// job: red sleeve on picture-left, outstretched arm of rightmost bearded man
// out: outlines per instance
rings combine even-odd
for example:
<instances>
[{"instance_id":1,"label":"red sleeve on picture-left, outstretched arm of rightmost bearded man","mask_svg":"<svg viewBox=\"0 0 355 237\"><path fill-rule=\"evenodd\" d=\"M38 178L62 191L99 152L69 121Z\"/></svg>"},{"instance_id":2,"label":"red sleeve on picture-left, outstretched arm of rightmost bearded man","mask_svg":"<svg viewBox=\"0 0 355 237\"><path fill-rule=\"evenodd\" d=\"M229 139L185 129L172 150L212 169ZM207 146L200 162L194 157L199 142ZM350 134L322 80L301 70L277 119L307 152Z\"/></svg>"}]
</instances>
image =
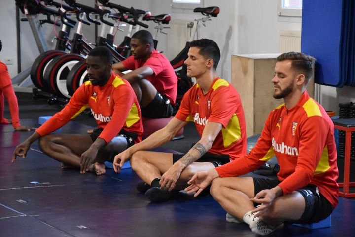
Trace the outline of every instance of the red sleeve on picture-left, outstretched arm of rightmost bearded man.
<instances>
[{"instance_id":1,"label":"red sleeve on picture-left, outstretched arm of rightmost bearded man","mask_svg":"<svg viewBox=\"0 0 355 237\"><path fill-rule=\"evenodd\" d=\"M255 147L250 151L248 155L244 155L225 165L216 168L220 177L235 177L247 174L257 169L267 160L275 156L274 150L272 148L272 140L270 133L271 117L272 116L270 114L269 118L265 122L265 126L261 132L261 136L256 142Z\"/></svg>"}]
</instances>

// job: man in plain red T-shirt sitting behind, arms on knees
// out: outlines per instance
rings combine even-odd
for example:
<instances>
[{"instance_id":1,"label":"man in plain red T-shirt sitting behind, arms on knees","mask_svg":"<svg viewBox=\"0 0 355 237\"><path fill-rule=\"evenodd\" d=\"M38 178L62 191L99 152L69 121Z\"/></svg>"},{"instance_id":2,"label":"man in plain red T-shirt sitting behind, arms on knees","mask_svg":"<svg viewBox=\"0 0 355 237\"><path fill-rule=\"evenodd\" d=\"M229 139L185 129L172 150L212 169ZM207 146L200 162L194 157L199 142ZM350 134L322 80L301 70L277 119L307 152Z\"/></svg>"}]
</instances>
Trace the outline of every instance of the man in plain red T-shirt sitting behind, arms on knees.
<instances>
[{"instance_id":1,"label":"man in plain red T-shirt sitting behind, arms on knees","mask_svg":"<svg viewBox=\"0 0 355 237\"><path fill-rule=\"evenodd\" d=\"M154 49L149 31L140 30L131 39L132 56L112 69L131 83L147 118L169 118L178 93L178 78L169 60ZM133 70L127 74L121 72Z\"/></svg>"}]
</instances>

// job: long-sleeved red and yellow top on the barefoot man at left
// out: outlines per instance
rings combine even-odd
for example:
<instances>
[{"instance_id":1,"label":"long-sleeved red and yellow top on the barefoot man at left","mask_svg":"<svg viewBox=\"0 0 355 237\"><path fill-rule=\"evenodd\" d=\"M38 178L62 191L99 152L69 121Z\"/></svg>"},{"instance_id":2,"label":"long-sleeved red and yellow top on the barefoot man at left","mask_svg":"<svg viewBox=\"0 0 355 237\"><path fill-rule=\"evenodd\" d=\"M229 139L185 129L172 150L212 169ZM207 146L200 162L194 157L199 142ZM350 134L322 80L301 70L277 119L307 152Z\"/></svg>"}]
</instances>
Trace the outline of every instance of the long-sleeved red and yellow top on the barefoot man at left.
<instances>
[{"instance_id":1,"label":"long-sleeved red and yellow top on the barefoot man at left","mask_svg":"<svg viewBox=\"0 0 355 237\"><path fill-rule=\"evenodd\" d=\"M36 132L41 136L51 133L88 107L98 126L104 128L99 137L106 143L121 129L136 133L136 143L142 141L143 125L137 97L130 83L113 73L102 87L94 86L90 81L83 83L63 110L46 121Z\"/></svg>"}]
</instances>

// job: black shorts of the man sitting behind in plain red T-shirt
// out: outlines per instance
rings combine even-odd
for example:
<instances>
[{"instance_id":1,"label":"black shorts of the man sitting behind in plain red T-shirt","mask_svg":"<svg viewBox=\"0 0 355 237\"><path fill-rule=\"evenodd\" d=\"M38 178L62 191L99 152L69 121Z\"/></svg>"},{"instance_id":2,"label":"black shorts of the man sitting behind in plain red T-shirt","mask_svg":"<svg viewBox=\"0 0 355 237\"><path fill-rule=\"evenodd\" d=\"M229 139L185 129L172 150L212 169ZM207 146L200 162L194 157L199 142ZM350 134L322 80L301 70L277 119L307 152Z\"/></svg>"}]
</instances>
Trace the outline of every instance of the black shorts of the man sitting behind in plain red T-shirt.
<instances>
[{"instance_id":1,"label":"black shorts of the man sitting behind in plain red T-shirt","mask_svg":"<svg viewBox=\"0 0 355 237\"><path fill-rule=\"evenodd\" d=\"M169 118L173 115L174 107L170 100L158 91L154 99L141 108L142 116L146 118Z\"/></svg>"}]
</instances>

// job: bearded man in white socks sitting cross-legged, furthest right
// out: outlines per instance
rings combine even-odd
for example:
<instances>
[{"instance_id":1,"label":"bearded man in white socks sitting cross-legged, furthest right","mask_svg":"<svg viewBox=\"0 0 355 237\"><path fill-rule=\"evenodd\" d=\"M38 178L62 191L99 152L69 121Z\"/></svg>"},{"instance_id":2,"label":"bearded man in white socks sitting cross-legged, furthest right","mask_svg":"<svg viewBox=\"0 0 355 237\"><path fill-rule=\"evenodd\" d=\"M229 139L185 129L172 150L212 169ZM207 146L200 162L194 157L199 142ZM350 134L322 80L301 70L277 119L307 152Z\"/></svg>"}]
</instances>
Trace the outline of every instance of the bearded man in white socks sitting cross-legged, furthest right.
<instances>
[{"instance_id":1,"label":"bearded man in white socks sitting cross-legged, furthest right","mask_svg":"<svg viewBox=\"0 0 355 237\"><path fill-rule=\"evenodd\" d=\"M185 190L195 196L212 181L211 194L227 211L227 221L245 222L267 235L284 221L310 224L328 217L338 204L334 125L306 91L314 58L298 52L277 58L273 110L251 152L228 164L197 173ZM277 179L236 177L276 155ZM219 178L220 177L220 178ZM254 205L261 204L254 209Z\"/></svg>"}]
</instances>

